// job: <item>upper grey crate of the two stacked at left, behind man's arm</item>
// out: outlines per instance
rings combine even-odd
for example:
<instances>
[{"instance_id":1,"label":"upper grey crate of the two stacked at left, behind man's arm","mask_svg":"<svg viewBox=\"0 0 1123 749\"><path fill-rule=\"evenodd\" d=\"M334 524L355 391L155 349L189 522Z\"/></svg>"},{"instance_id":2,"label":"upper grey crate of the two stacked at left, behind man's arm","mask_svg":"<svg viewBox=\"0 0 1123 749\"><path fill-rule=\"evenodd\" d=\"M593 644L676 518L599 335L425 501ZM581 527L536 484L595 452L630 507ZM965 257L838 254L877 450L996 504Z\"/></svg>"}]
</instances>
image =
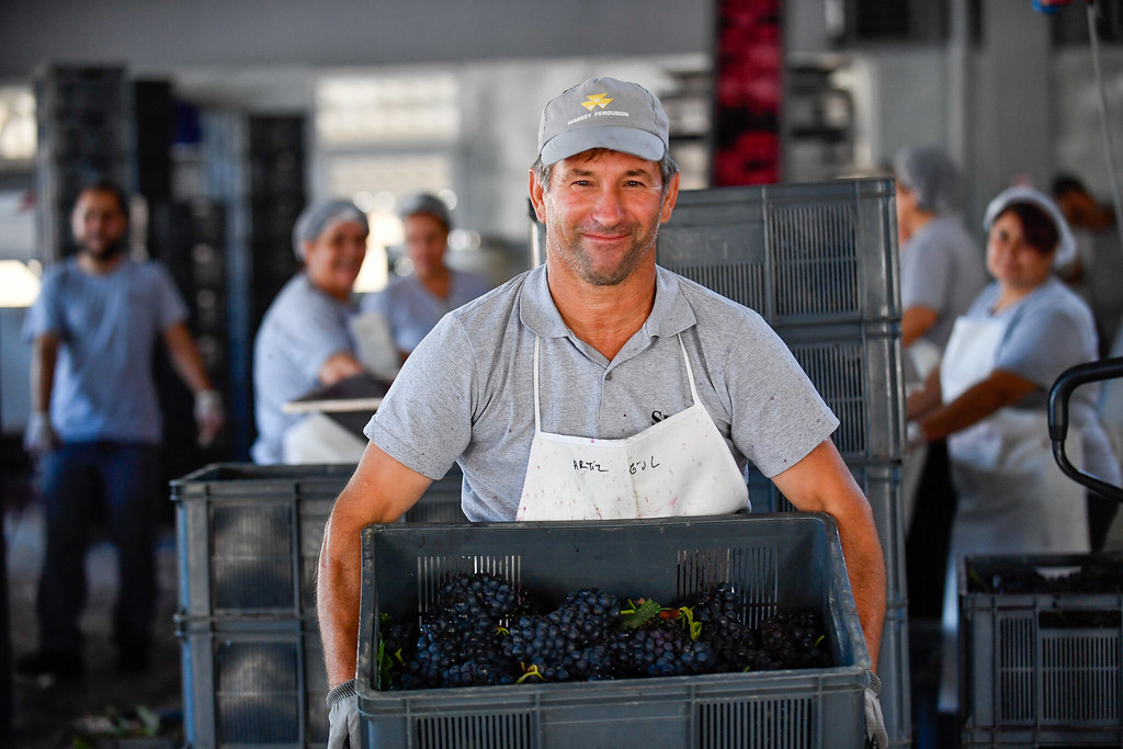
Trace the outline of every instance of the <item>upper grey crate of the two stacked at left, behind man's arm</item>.
<instances>
[{"instance_id":1,"label":"upper grey crate of the two stacked at left, behind man's arm","mask_svg":"<svg viewBox=\"0 0 1123 749\"><path fill-rule=\"evenodd\" d=\"M180 611L190 616L312 616L323 526L353 465L212 464L171 483ZM458 468L405 522L467 522Z\"/></svg>"}]
</instances>

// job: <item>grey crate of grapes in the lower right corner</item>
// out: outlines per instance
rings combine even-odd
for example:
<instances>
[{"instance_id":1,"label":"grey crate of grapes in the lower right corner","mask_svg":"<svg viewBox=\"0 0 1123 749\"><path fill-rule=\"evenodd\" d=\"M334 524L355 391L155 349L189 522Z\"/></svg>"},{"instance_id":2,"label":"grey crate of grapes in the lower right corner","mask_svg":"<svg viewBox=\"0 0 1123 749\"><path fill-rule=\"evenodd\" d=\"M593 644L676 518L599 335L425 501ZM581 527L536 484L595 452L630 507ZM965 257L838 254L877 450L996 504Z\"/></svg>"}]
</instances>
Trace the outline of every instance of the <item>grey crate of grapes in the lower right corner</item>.
<instances>
[{"instance_id":1,"label":"grey crate of grapes in the lower right corner","mask_svg":"<svg viewBox=\"0 0 1123 749\"><path fill-rule=\"evenodd\" d=\"M968 556L964 746L1123 746L1123 555Z\"/></svg>"}]
</instances>

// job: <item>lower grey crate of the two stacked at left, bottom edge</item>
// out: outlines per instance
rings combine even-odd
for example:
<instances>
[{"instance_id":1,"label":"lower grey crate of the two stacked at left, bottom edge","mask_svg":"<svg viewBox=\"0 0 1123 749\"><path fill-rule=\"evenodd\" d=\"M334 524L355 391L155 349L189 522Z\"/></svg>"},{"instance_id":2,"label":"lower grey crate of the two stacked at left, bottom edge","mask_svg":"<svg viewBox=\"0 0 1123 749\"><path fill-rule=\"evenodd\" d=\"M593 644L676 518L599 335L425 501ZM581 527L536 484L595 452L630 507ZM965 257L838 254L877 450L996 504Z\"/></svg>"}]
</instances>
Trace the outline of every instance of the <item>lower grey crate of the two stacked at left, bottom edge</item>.
<instances>
[{"instance_id":1,"label":"lower grey crate of the two stacked at left, bottom edge","mask_svg":"<svg viewBox=\"0 0 1123 749\"><path fill-rule=\"evenodd\" d=\"M314 619L176 618L191 749L322 749L327 673Z\"/></svg>"}]
</instances>

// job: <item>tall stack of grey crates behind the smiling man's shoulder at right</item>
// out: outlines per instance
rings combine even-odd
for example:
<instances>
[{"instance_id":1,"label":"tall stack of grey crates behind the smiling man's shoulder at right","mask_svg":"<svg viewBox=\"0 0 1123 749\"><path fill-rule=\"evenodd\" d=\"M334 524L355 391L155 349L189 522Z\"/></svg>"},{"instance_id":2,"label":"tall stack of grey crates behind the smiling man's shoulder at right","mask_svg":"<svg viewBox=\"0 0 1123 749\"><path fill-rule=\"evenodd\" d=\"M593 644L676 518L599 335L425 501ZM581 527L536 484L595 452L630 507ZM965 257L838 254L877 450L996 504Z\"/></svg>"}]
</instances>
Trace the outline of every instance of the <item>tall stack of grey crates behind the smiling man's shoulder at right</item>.
<instances>
[{"instance_id":1,"label":"tall stack of grey crates behind the smiling man's shoulder at right","mask_svg":"<svg viewBox=\"0 0 1123 749\"><path fill-rule=\"evenodd\" d=\"M894 198L887 179L684 191L657 258L759 312L841 421L834 444L873 506L888 574L886 728L894 746L911 746ZM754 512L793 509L755 468L748 481Z\"/></svg>"}]
</instances>

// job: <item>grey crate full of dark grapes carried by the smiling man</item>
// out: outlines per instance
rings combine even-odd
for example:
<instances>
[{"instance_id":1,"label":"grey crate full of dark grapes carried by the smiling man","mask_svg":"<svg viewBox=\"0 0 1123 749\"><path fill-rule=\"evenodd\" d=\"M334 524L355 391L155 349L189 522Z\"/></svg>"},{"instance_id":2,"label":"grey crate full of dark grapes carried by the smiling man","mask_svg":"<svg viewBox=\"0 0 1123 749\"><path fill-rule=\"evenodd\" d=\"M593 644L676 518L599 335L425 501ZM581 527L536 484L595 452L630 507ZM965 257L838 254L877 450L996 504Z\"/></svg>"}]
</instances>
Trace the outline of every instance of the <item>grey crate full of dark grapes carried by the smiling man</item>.
<instances>
[{"instance_id":1,"label":"grey crate full of dark grapes carried by the smiling man","mask_svg":"<svg viewBox=\"0 0 1123 749\"><path fill-rule=\"evenodd\" d=\"M860 747L831 518L363 532L365 746Z\"/></svg>"}]
</instances>

